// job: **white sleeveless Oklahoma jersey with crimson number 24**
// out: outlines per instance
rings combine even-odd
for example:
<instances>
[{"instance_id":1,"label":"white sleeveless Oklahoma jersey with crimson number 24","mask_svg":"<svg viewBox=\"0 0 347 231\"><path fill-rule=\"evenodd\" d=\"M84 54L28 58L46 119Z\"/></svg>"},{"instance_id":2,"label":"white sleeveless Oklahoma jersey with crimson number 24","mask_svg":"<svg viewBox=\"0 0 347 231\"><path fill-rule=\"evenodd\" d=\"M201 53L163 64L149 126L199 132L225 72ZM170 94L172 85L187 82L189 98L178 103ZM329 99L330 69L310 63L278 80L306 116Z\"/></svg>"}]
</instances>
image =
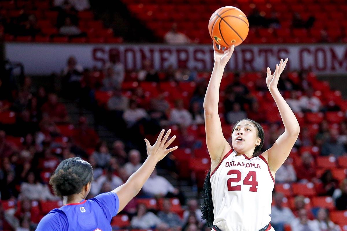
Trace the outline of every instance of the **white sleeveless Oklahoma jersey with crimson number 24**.
<instances>
[{"instance_id":1,"label":"white sleeveless Oklahoma jersey with crimson number 24","mask_svg":"<svg viewBox=\"0 0 347 231\"><path fill-rule=\"evenodd\" d=\"M230 150L210 180L213 224L219 229L258 231L270 223L274 179L264 157L236 156Z\"/></svg>"}]
</instances>

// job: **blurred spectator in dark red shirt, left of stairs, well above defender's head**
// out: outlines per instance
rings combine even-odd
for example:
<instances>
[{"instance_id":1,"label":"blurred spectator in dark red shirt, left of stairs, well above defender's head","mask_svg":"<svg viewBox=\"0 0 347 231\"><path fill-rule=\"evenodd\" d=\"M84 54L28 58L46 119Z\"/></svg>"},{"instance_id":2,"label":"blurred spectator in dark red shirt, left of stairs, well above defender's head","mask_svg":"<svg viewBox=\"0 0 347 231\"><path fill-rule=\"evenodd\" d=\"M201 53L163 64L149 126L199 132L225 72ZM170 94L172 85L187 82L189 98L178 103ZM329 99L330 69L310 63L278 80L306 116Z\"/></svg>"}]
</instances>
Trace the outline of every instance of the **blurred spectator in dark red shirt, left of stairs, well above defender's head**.
<instances>
[{"instance_id":1,"label":"blurred spectator in dark red shirt, left of stairs, well above defender's head","mask_svg":"<svg viewBox=\"0 0 347 231\"><path fill-rule=\"evenodd\" d=\"M69 121L64 104L58 102L58 97L54 93L49 94L48 101L42 106L41 110L42 113L48 113L56 123Z\"/></svg>"}]
</instances>

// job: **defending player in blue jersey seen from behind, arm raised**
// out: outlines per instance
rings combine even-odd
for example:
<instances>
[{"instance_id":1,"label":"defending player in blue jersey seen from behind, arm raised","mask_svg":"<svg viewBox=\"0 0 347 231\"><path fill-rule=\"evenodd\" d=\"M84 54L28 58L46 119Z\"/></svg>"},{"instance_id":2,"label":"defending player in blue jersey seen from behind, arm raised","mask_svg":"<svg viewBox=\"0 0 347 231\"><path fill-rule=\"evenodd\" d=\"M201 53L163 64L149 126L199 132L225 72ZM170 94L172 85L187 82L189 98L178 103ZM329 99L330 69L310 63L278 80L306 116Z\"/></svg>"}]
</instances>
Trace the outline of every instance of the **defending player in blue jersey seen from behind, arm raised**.
<instances>
[{"instance_id":1,"label":"defending player in blue jersey seen from behind, arm raised","mask_svg":"<svg viewBox=\"0 0 347 231\"><path fill-rule=\"evenodd\" d=\"M112 217L137 195L152 174L156 163L177 149L177 146L167 149L176 139L176 136L173 136L166 142L170 132L171 130L168 130L161 140L164 134L162 130L153 146L145 139L148 157L124 185L89 200L85 198L90 192L93 180L90 163L76 157L62 161L51 177L50 184L54 193L63 198L64 206L53 209L44 216L36 231L111 230Z\"/></svg>"}]
</instances>

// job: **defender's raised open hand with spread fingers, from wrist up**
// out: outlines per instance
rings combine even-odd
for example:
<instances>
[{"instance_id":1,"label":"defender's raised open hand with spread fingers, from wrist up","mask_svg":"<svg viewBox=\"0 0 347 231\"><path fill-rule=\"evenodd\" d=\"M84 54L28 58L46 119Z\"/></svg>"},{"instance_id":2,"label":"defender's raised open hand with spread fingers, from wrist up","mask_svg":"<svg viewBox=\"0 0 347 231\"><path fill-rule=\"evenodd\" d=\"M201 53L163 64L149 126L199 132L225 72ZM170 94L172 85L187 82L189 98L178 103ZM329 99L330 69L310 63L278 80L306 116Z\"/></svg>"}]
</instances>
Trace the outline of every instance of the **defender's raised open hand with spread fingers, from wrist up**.
<instances>
[{"instance_id":1,"label":"defender's raised open hand with spread fingers, from wrist up","mask_svg":"<svg viewBox=\"0 0 347 231\"><path fill-rule=\"evenodd\" d=\"M163 159L169 152L172 152L178 148L177 146L175 146L173 148L167 149L168 146L172 143L172 141L176 139L176 136L172 136L172 138L168 142L166 142L171 133L171 129L167 131L164 138L162 139L164 131L164 129L161 130L158 139L156 140L153 146L151 146L150 142L147 139L145 139L147 146L147 155L149 157L155 158L157 162Z\"/></svg>"}]
</instances>

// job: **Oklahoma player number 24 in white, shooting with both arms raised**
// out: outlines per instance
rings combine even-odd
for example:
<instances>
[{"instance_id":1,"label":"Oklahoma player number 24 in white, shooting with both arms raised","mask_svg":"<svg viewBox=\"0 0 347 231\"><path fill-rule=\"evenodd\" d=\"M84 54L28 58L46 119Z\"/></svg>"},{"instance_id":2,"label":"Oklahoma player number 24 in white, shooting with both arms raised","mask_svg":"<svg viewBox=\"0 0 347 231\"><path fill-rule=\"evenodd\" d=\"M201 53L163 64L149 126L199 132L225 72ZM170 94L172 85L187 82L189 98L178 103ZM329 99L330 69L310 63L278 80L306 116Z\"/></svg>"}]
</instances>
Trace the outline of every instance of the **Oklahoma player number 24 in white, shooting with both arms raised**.
<instances>
[{"instance_id":1,"label":"Oklahoma player number 24 in white, shooting with both arms raised","mask_svg":"<svg viewBox=\"0 0 347 231\"><path fill-rule=\"evenodd\" d=\"M264 131L259 123L251 119L238 121L231 134L233 149L223 136L218 115L219 85L234 46L222 50L213 42L213 50L214 66L204 99L206 143L212 165L203 188L203 218L214 230L273 230L269 215L274 176L299 135L296 117L277 89L288 59L281 60L273 74L270 68L266 71L266 84L285 132L260 155L257 153L263 146Z\"/></svg>"}]
</instances>

